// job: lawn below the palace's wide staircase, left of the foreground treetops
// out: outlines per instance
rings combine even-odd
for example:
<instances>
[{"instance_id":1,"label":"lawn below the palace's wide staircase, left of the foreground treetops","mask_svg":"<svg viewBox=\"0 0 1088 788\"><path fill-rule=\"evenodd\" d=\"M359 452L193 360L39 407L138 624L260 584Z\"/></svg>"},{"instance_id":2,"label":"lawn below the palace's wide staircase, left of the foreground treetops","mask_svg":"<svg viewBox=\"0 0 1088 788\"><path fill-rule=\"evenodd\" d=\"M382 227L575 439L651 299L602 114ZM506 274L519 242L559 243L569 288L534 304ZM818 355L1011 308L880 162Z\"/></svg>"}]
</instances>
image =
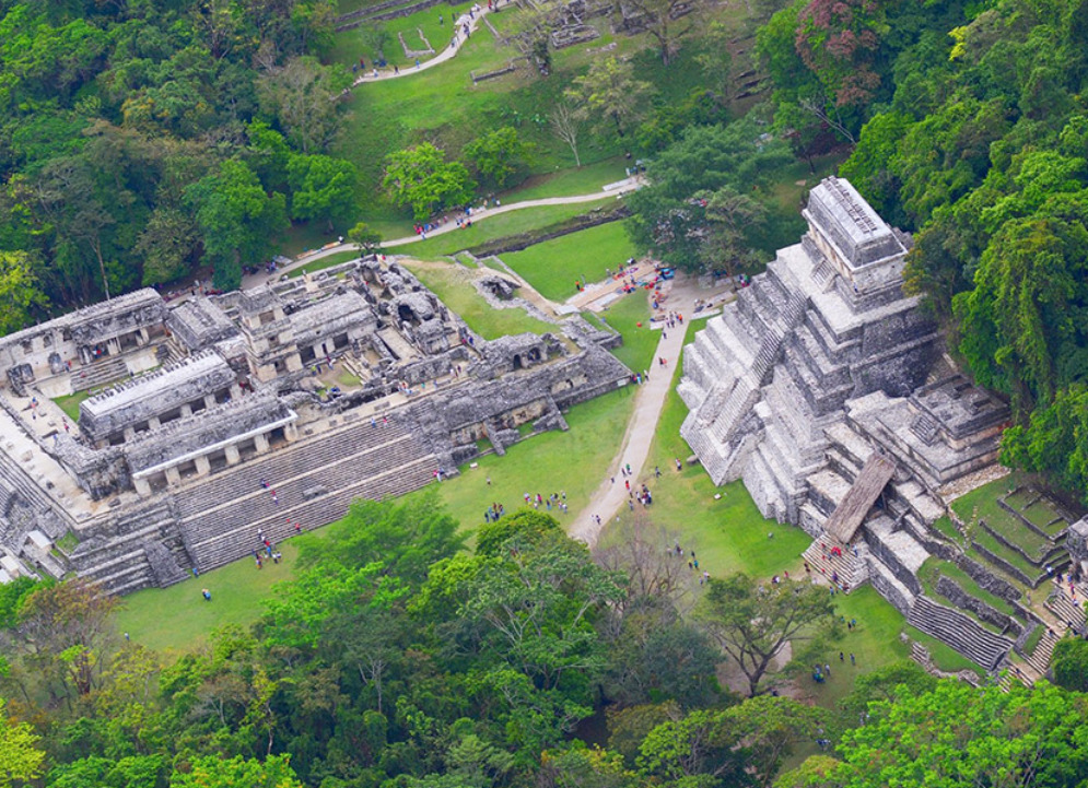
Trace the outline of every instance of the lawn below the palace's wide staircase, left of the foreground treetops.
<instances>
[{"instance_id":1,"label":"lawn below the palace's wide staircase, left of the foreground treetops","mask_svg":"<svg viewBox=\"0 0 1088 788\"><path fill-rule=\"evenodd\" d=\"M290 539L279 549L283 561L267 561L260 571L253 558L242 558L169 588L148 588L125 597L116 618L118 631L160 651L191 651L207 643L217 627L248 626L264 611L261 601L271 596L272 585L293 575L299 550ZM211 602L200 596L202 588L211 591Z\"/></svg>"}]
</instances>

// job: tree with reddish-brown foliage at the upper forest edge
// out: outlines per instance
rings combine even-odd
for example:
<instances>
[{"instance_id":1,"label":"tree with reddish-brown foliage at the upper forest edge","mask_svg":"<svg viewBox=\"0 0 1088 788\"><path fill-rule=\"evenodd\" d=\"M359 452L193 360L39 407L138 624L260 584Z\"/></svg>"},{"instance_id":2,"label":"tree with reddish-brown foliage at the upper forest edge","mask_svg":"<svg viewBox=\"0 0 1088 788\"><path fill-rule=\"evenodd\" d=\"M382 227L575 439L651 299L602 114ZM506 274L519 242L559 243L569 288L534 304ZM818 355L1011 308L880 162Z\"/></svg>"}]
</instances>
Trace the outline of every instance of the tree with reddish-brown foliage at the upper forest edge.
<instances>
[{"instance_id":1,"label":"tree with reddish-brown foliage at the upper forest edge","mask_svg":"<svg viewBox=\"0 0 1088 788\"><path fill-rule=\"evenodd\" d=\"M798 17L795 46L835 107L871 101L880 75L874 70L885 10L877 0L810 0Z\"/></svg>"}]
</instances>

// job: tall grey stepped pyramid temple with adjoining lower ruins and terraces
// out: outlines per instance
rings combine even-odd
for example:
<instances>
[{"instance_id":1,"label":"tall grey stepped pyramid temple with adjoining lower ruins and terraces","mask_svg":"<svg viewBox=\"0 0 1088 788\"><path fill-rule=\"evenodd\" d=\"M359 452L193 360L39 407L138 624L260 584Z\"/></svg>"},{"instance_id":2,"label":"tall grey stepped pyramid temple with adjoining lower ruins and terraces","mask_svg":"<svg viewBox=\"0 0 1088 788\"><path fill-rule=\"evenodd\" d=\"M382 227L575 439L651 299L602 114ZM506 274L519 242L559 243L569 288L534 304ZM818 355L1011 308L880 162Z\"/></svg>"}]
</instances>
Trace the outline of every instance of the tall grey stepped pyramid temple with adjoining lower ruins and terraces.
<instances>
[{"instance_id":1,"label":"tall grey stepped pyramid temple with adjoining lower ruins and terraces","mask_svg":"<svg viewBox=\"0 0 1088 788\"><path fill-rule=\"evenodd\" d=\"M764 516L812 536L814 571L846 589L871 583L909 623L996 669L1041 626L998 574L1038 587L1067 560L1066 532L1006 506L1039 543L1019 568L978 541L968 555L934 527L950 492L994 464L1008 409L955 373L936 326L904 297L909 237L834 177L804 215L802 243L685 349L681 434L715 483L742 479ZM941 593L963 603L936 601L919 579L931 555L1013 614L948 583Z\"/></svg>"}]
</instances>

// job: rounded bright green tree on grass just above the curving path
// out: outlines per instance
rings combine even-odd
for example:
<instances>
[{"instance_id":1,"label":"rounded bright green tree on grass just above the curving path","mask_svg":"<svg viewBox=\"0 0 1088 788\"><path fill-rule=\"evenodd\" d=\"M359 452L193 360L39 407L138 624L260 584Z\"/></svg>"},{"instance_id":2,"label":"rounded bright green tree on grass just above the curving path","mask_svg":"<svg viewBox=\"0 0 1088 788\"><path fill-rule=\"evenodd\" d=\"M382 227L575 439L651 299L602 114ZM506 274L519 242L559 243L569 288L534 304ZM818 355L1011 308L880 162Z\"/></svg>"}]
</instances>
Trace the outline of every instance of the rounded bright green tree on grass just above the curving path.
<instances>
[{"instance_id":1,"label":"rounded bright green tree on grass just above the curving path","mask_svg":"<svg viewBox=\"0 0 1088 788\"><path fill-rule=\"evenodd\" d=\"M389 155L382 186L394 202L411 205L417 221L438 208L468 202L476 188L465 165L447 162L430 142Z\"/></svg>"}]
</instances>

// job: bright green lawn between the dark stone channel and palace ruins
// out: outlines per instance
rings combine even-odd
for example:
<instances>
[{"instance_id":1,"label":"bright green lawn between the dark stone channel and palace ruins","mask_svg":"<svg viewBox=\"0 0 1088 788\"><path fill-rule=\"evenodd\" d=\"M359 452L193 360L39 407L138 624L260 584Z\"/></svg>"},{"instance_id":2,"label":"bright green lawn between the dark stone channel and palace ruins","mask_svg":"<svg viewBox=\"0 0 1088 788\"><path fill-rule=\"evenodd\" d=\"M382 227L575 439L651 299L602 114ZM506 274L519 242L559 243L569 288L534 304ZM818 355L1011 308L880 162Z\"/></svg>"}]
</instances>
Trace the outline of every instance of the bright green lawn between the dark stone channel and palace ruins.
<instances>
[{"instance_id":1,"label":"bright green lawn between the dark stone channel and palace ruins","mask_svg":"<svg viewBox=\"0 0 1088 788\"><path fill-rule=\"evenodd\" d=\"M500 257L540 295L563 302L574 295L575 280L597 282L605 278L606 268L616 271L637 254L623 224L609 222Z\"/></svg>"}]
</instances>

